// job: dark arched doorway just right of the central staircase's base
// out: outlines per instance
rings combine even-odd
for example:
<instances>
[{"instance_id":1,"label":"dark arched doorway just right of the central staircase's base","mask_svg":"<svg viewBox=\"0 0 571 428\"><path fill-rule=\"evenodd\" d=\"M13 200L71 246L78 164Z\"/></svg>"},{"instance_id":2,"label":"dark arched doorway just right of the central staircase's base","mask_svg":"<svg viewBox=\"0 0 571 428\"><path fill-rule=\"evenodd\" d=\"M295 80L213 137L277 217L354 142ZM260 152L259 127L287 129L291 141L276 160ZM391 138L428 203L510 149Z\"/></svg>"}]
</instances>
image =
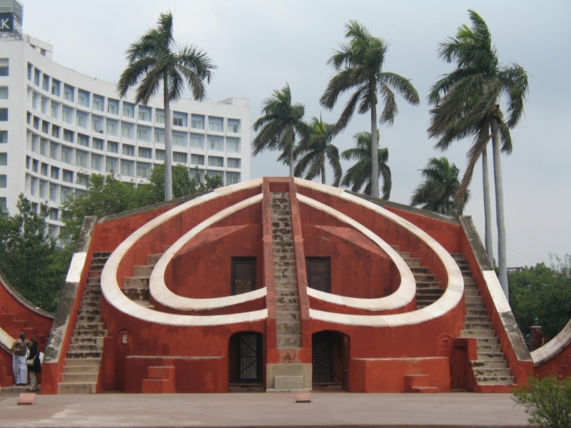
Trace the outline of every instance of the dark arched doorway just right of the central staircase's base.
<instances>
[{"instance_id":1,"label":"dark arched doorway just right of the central staircase's base","mask_svg":"<svg viewBox=\"0 0 571 428\"><path fill-rule=\"evenodd\" d=\"M343 336L318 332L311 339L313 384L343 386Z\"/></svg>"}]
</instances>

